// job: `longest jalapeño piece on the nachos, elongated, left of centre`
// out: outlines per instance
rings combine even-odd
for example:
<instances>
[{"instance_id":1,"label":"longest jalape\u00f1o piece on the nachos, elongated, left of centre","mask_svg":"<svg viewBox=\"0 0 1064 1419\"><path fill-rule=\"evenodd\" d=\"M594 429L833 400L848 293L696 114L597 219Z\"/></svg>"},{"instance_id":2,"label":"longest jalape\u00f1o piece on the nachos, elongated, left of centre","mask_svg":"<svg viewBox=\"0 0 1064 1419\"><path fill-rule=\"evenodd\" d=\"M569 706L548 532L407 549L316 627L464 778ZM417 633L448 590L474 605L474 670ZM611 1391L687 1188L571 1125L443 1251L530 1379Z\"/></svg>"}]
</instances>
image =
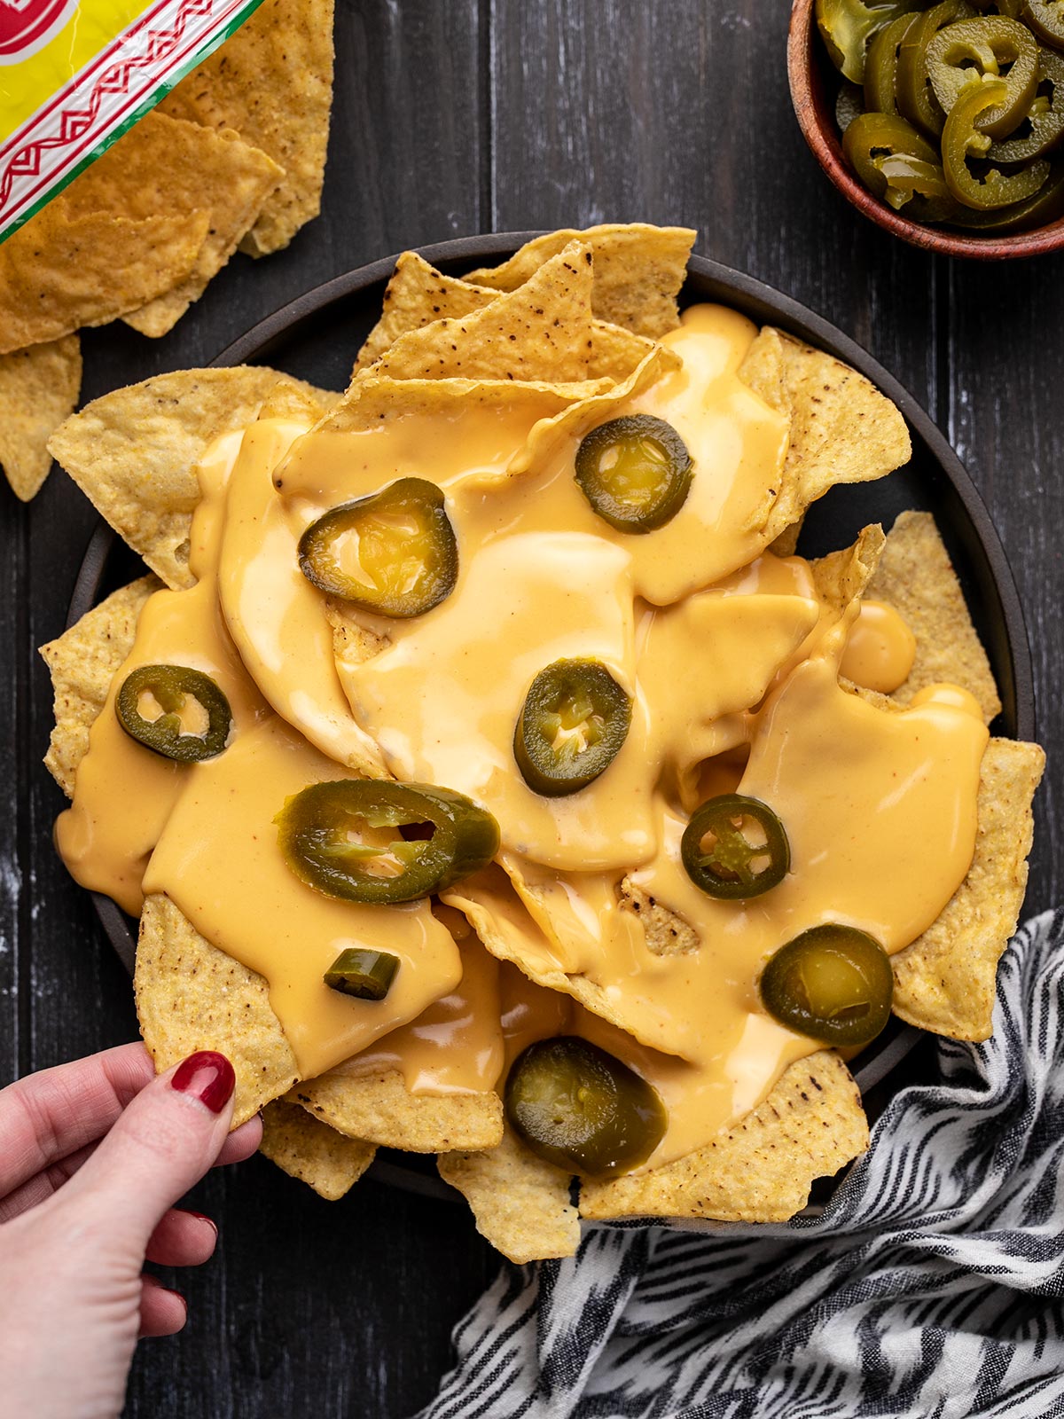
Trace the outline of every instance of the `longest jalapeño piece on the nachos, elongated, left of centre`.
<instances>
[{"instance_id":1,"label":"longest jalape\u00f1o piece on the nachos, elongated, left of centre","mask_svg":"<svg viewBox=\"0 0 1064 1419\"><path fill-rule=\"evenodd\" d=\"M301 881L377 907L441 891L485 867L499 846L491 813L431 783L311 783L275 822L281 851Z\"/></svg>"}]
</instances>

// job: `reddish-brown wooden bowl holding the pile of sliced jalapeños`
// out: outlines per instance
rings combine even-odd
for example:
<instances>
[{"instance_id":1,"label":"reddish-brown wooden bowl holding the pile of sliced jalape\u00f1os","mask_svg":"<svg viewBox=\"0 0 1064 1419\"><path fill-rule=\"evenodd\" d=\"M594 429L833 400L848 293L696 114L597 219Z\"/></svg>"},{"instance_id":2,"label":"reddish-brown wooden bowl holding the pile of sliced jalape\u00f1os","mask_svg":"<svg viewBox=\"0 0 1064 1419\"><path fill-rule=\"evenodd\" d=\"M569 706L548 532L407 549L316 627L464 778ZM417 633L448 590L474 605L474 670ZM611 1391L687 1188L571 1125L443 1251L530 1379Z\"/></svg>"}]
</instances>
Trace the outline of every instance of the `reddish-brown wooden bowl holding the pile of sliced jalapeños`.
<instances>
[{"instance_id":1,"label":"reddish-brown wooden bowl holding the pile of sliced jalape\u00f1os","mask_svg":"<svg viewBox=\"0 0 1064 1419\"><path fill-rule=\"evenodd\" d=\"M870 217L884 231L901 237L902 241L909 241L914 247L922 247L925 251L941 251L951 257L1004 261L1009 257L1037 257L1064 247L1064 217L1057 217L1047 226L1034 227L1031 231L980 237L926 226L921 221L909 221L908 217L874 197L843 156L834 104L840 75L827 57L824 43L817 33L813 6L814 0L793 0L790 10L790 33L787 35L790 98L799 128L813 149L816 160L847 201L853 203L860 213Z\"/></svg>"}]
</instances>

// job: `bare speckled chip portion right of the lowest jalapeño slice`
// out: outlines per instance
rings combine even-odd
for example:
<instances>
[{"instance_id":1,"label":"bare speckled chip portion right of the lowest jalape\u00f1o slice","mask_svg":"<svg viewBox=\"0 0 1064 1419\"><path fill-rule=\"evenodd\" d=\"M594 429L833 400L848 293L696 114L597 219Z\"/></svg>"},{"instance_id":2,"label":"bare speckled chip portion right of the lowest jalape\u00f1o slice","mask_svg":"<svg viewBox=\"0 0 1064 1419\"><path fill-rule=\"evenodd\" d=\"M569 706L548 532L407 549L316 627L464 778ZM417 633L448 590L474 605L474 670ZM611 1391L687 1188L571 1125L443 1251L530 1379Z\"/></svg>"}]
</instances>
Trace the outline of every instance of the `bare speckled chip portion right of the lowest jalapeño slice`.
<instances>
[{"instance_id":1,"label":"bare speckled chip portion right of the lowest jalape\u00f1o slice","mask_svg":"<svg viewBox=\"0 0 1064 1419\"><path fill-rule=\"evenodd\" d=\"M705 1148L648 1172L584 1182L580 1216L786 1222L809 1202L814 1179L867 1148L857 1084L834 1050L817 1050Z\"/></svg>"}]
</instances>

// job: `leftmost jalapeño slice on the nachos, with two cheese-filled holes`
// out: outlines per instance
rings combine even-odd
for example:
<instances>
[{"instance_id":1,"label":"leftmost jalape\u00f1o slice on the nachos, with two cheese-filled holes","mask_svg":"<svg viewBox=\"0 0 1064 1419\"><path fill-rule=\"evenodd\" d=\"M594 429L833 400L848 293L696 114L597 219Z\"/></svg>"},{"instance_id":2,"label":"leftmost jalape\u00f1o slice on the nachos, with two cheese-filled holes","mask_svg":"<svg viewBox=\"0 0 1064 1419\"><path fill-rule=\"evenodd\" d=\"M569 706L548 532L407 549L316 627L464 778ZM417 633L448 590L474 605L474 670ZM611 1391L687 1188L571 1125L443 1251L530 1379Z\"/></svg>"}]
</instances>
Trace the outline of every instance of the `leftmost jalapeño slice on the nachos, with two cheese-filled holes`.
<instances>
[{"instance_id":1,"label":"leftmost jalape\u00f1o slice on the nachos, with two cheese-filled holes","mask_svg":"<svg viewBox=\"0 0 1064 1419\"><path fill-rule=\"evenodd\" d=\"M221 753L233 725L223 691L190 666L139 666L123 680L115 714L131 739L179 763Z\"/></svg>"}]
</instances>

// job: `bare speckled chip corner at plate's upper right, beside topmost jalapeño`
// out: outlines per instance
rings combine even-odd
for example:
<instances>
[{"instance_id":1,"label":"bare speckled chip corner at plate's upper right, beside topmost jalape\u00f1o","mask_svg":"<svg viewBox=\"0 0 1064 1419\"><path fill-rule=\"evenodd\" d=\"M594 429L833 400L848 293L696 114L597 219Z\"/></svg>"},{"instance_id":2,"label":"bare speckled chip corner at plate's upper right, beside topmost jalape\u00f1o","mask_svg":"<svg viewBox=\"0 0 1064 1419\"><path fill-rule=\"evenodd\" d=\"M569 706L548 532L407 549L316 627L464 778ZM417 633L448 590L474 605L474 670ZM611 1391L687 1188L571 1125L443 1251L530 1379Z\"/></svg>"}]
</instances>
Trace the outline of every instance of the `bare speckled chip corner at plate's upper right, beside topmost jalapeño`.
<instances>
[{"instance_id":1,"label":"bare speckled chip corner at plate's upper right, beside topmost jalape\u00f1o","mask_svg":"<svg viewBox=\"0 0 1064 1419\"><path fill-rule=\"evenodd\" d=\"M912 444L901 413L834 356L765 326L739 377L770 407L790 414L790 444L766 524L770 539L836 484L868 482L908 463Z\"/></svg>"}]
</instances>

